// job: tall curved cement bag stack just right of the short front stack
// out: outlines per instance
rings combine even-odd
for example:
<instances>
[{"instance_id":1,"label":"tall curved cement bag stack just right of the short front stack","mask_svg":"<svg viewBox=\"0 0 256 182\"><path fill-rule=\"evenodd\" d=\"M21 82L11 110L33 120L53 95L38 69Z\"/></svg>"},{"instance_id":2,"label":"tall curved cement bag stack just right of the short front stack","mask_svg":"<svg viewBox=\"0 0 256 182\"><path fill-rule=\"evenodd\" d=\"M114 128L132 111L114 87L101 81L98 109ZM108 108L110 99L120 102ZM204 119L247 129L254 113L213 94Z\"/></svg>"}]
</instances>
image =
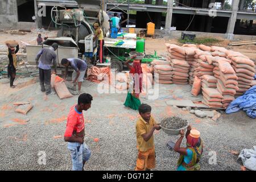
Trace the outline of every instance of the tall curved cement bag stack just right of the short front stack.
<instances>
[{"instance_id":1,"label":"tall curved cement bag stack just right of the short front stack","mask_svg":"<svg viewBox=\"0 0 256 182\"><path fill-rule=\"evenodd\" d=\"M219 69L217 90L223 96L222 104L224 109L226 109L230 102L235 99L234 96L238 90L238 77L228 61L218 60L216 63L214 63L214 65L216 65Z\"/></svg>"}]
</instances>

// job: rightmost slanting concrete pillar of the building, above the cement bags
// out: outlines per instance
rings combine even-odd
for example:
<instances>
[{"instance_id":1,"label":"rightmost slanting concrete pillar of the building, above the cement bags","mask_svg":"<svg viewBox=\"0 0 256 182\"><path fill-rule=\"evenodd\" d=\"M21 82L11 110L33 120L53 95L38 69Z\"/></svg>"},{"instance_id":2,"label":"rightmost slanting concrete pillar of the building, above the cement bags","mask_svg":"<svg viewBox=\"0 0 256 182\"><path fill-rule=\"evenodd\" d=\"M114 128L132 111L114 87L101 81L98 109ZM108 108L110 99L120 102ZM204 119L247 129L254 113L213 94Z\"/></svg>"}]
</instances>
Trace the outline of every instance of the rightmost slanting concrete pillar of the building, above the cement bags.
<instances>
[{"instance_id":1,"label":"rightmost slanting concrete pillar of the building, above the cement bags","mask_svg":"<svg viewBox=\"0 0 256 182\"><path fill-rule=\"evenodd\" d=\"M232 14L229 18L229 22L228 22L228 28L226 30L226 38L227 39L233 39L234 38L234 27L236 24L236 20L237 20L237 11L238 11L238 5L239 5L239 1L232 1Z\"/></svg>"}]
</instances>

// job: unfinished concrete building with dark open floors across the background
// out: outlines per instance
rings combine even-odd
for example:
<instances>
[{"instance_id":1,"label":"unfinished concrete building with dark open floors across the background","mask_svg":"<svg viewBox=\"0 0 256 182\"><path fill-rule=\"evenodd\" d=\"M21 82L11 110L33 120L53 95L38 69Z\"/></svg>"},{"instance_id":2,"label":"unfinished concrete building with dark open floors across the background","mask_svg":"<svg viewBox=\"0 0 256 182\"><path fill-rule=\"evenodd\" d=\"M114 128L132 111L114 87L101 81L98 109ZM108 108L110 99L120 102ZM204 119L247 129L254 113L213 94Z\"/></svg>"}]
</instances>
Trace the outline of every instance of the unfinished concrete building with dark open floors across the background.
<instances>
[{"instance_id":1,"label":"unfinished concrete building with dark open floors across the background","mask_svg":"<svg viewBox=\"0 0 256 182\"><path fill-rule=\"evenodd\" d=\"M103 6L106 11L123 13L122 26L127 22L137 28L146 28L148 22L178 31L212 32L225 34L233 39L234 34L256 35L255 4L245 0L98 0L84 1L81 6L92 10ZM95 4L97 2L97 5ZM250 4L248 4L248 2ZM46 15L38 11L46 6ZM0 29L6 28L54 28L51 20L52 6L76 8L75 0L1 0ZM35 13L36 12L36 13ZM129 15L128 15L128 14ZM129 21L127 18L129 16ZM94 18L94 17L92 17Z\"/></svg>"}]
</instances>

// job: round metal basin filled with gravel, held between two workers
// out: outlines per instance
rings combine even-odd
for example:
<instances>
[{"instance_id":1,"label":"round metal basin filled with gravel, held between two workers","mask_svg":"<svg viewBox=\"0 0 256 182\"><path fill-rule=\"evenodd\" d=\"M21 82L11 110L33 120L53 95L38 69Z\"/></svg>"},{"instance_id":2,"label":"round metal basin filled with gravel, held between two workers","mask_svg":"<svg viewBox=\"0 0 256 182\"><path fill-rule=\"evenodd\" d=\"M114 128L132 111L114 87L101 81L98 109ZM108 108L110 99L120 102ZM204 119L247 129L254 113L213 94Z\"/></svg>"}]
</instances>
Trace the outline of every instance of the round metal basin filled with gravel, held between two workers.
<instances>
[{"instance_id":1,"label":"round metal basin filled with gravel, held between two workers","mask_svg":"<svg viewBox=\"0 0 256 182\"><path fill-rule=\"evenodd\" d=\"M168 135L178 135L180 130L184 130L188 127L188 121L180 117L168 117L161 121L160 126L164 133Z\"/></svg>"}]
</instances>

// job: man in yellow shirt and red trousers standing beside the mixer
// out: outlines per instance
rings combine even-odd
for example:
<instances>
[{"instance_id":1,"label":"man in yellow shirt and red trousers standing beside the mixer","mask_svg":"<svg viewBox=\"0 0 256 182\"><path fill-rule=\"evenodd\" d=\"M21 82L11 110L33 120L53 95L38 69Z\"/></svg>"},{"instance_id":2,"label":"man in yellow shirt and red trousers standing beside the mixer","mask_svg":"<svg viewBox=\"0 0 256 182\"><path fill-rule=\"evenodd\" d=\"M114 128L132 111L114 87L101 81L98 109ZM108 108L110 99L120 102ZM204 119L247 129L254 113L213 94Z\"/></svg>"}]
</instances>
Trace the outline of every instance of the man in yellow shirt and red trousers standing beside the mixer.
<instances>
[{"instance_id":1,"label":"man in yellow shirt and red trousers standing beside the mixer","mask_svg":"<svg viewBox=\"0 0 256 182\"><path fill-rule=\"evenodd\" d=\"M98 59L100 60L100 63L102 63L103 60L103 48L104 48L104 35L103 35L103 31L100 27L100 25L98 23L94 23L94 30L95 30L95 35L93 40L95 40L96 38L98 38L98 51L97 51L97 55L98 55Z\"/></svg>"}]
</instances>

